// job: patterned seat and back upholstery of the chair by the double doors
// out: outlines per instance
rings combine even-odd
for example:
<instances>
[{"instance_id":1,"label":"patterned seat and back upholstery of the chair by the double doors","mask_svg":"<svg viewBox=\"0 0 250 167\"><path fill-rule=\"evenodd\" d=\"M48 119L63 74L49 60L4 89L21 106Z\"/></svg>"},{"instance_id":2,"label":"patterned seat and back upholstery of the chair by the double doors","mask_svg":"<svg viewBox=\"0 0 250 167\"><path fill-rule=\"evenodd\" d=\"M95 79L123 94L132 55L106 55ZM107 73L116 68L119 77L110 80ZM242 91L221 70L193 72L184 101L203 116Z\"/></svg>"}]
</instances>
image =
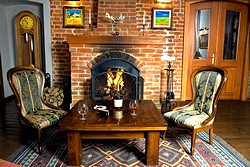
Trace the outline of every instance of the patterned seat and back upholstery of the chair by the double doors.
<instances>
[{"instance_id":1,"label":"patterned seat and back upholstery of the chair by the double doors","mask_svg":"<svg viewBox=\"0 0 250 167\"><path fill-rule=\"evenodd\" d=\"M164 117L184 126L199 128L201 123L212 113L212 105L215 93L220 85L222 77L218 72L202 71L195 76L194 89L195 100L185 109L167 112ZM209 124L212 124L212 119Z\"/></svg>"}]
</instances>

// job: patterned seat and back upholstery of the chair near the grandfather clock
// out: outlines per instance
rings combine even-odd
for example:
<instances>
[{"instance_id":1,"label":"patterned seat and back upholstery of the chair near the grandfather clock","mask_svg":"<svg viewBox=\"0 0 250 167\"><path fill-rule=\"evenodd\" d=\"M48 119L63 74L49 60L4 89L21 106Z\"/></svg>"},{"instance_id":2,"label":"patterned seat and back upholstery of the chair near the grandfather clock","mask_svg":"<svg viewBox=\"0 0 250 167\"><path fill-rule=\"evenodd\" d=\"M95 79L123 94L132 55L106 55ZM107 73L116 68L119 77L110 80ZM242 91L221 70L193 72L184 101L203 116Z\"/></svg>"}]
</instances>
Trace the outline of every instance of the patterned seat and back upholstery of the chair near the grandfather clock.
<instances>
[{"instance_id":1,"label":"patterned seat and back upholstery of the chair near the grandfather clock","mask_svg":"<svg viewBox=\"0 0 250 167\"><path fill-rule=\"evenodd\" d=\"M31 70L21 70L13 75L13 84L17 88L22 103L22 115L39 129L58 123L67 114L66 111L49 108L41 100L42 76Z\"/></svg>"}]
</instances>

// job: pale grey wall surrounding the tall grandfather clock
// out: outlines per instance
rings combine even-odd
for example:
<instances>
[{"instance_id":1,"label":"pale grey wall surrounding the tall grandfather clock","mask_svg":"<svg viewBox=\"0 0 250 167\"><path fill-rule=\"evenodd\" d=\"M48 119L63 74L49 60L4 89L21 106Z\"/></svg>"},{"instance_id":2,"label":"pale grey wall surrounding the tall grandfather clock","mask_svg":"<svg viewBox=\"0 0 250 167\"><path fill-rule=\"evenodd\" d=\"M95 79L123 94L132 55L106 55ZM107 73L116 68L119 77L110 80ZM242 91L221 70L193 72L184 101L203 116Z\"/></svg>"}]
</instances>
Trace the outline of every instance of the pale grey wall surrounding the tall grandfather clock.
<instances>
[{"instance_id":1,"label":"pale grey wall surrounding the tall grandfather clock","mask_svg":"<svg viewBox=\"0 0 250 167\"><path fill-rule=\"evenodd\" d=\"M23 10L29 10L38 15L44 27L44 47L46 72L52 74L51 35L50 35L50 4L49 0L16 0L16 3L0 1L0 53L2 57L2 72L4 96L13 94L7 81L7 71L17 65L15 43L15 16ZM23 4L21 4L23 2ZM2 5L1 5L2 3Z\"/></svg>"}]
</instances>

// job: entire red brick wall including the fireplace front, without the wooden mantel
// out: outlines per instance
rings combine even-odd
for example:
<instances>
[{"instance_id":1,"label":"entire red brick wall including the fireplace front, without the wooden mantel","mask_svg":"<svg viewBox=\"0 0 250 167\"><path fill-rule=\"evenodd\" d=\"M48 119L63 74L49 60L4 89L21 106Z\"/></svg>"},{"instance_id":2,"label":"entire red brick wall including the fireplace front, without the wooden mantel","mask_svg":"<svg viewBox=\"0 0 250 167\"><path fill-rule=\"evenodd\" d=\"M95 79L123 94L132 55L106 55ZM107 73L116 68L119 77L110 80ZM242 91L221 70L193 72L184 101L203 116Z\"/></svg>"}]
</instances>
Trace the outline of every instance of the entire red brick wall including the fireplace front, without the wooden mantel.
<instances>
[{"instance_id":1,"label":"entire red brick wall including the fireplace front, without the wooden mantel","mask_svg":"<svg viewBox=\"0 0 250 167\"><path fill-rule=\"evenodd\" d=\"M176 98L180 97L181 91L181 69L183 52L184 31L184 5L180 6L179 0L173 0L165 4L165 8L173 8L172 29L151 29L151 9L164 8L152 0L81 0L74 2L78 6L85 7L84 28L63 27L63 6L72 6L72 2L63 0L50 0L51 3L51 36L52 36L52 64L54 86L62 86L63 77L71 75L73 89L73 101L90 96L90 69L87 62L93 59L100 51L99 46L74 46L79 52L69 51L66 36L74 32L76 35L98 35L110 36L111 23L105 19L105 13L118 17L125 16L123 23L118 24L116 31L121 36L142 36L143 12L146 12L145 36L165 36L166 43L163 45L140 45L141 48L127 47L124 49L132 53L135 58L145 65L142 67L142 77L145 79L144 99L153 99L160 106L160 99L164 97L166 90L166 62L160 60L162 51L170 56L175 56L177 61L173 63L174 92ZM88 11L91 9L94 31L90 32L88 27ZM79 48L78 48L79 47ZM118 46L117 46L118 47ZM71 48L72 49L72 48ZM103 48L102 48L103 49ZM133 50L133 51L131 51ZM134 50L138 52L135 53ZM149 71L150 69L150 71ZM73 103L74 103L73 102Z\"/></svg>"}]
</instances>

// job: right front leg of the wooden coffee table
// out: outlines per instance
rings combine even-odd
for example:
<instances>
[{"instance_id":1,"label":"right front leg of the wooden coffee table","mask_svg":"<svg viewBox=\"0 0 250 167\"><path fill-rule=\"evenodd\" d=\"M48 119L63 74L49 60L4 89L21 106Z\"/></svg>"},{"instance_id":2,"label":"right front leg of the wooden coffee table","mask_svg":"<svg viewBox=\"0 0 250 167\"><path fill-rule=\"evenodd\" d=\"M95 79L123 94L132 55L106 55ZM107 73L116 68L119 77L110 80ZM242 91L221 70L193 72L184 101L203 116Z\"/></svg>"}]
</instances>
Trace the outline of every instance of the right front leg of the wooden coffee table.
<instances>
[{"instance_id":1,"label":"right front leg of the wooden coffee table","mask_svg":"<svg viewBox=\"0 0 250 167\"><path fill-rule=\"evenodd\" d=\"M146 137L146 164L158 165L160 132L148 132Z\"/></svg>"}]
</instances>

